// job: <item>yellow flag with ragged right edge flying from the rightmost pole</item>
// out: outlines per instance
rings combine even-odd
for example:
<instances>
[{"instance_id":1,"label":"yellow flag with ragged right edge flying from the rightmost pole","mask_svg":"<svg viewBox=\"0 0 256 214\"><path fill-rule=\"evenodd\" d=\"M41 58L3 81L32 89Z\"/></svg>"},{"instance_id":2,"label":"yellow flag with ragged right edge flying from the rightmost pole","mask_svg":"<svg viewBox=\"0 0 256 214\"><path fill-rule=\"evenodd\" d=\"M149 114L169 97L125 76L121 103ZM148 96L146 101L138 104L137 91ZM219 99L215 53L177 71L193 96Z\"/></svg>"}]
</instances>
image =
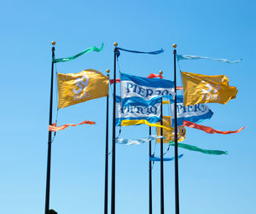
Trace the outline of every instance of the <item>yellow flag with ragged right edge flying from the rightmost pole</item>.
<instances>
[{"instance_id":1,"label":"yellow flag with ragged right edge flying from the rightmost pole","mask_svg":"<svg viewBox=\"0 0 256 214\"><path fill-rule=\"evenodd\" d=\"M218 102L226 104L236 98L237 89L229 85L225 75L209 76L181 72L183 78L183 106L197 103Z\"/></svg>"}]
</instances>

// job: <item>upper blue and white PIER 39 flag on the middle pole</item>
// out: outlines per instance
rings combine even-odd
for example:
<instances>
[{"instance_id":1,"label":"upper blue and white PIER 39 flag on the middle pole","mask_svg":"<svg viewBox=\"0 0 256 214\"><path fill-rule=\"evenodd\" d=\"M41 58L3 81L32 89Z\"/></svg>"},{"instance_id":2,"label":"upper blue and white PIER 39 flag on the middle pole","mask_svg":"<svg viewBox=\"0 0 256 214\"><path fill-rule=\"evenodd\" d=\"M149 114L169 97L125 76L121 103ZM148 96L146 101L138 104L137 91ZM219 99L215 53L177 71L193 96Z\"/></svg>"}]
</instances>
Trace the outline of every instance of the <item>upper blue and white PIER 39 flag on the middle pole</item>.
<instances>
[{"instance_id":1,"label":"upper blue and white PIER 39 flag on the middle pole","mask_svg":"<svg viewBox=\"0 0 256 214\"><path fill-rule=\"evenodd\" d=\"M121 73L122 106L153 106L163 96L173 95L173 87L170 80Z\"/></svg>"}]
</instances>

